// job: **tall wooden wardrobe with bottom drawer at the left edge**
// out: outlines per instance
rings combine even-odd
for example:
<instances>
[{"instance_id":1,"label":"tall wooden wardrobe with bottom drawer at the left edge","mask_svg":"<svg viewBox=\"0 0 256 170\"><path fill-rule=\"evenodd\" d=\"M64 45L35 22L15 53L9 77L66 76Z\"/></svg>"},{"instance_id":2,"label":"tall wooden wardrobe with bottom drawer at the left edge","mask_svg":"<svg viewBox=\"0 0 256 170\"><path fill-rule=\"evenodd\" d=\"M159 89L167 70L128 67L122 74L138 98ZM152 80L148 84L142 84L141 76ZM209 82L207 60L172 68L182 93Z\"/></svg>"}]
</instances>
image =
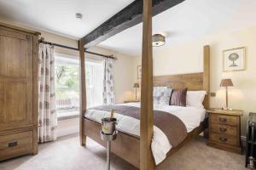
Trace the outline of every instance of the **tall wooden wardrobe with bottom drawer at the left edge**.
<instances>
[{"instance_id":1,"label":"tall wooden wardrobe with bottom drawer at the left edge","mask_svg":"<svg viewBox=\"0 0 256 170\"><path fill-rule=\"evenodd\" d=\"M38 36L0 23L0 161L38 153Z\"/></svg>"}]
</instances>

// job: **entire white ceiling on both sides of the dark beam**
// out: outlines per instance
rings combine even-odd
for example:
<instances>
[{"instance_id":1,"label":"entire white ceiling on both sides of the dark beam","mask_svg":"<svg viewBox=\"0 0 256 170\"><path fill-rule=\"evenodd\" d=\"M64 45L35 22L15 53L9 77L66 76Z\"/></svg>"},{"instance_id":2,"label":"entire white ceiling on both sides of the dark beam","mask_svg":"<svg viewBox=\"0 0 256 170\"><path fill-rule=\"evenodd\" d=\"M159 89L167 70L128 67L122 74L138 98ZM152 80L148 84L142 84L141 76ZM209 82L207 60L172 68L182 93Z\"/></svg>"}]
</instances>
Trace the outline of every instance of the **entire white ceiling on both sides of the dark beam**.
<instances>
[{"instance_id":1,"label":"entire white ceiling on both sides of the dark beam","mask_svg":"<svg viewBox=\"0 0 256 170\"><path fill-rule=\"evenodd\" d=\"M0 0L0 20L83 37L134 0ZM75 18L84 14L83 20ZM188 42L218 31L256 26L256 0L186 0L153 19L153 32L166 34L166 45ZM101 42L119 53L140 55L143 25L139 24Z\"/></svg>"}]
</instances>

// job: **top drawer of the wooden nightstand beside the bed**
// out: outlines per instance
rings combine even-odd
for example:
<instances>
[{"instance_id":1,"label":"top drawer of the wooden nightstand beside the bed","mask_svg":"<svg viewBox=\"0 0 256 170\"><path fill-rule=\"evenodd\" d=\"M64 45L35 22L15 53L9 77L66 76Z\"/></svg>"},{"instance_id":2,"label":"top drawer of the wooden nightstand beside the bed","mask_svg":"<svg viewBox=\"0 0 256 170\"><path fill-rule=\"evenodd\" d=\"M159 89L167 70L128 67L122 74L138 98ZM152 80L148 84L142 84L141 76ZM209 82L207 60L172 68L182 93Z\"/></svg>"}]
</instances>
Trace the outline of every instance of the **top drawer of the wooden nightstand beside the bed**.
<instances>
[{"instance_id":1,"label":"top drawer of the wooden nightstand beside the bed","mask_svg":"<svg viewBox=\"0 0 256 170\"><path fill-rule=\"evenodd\" d=\"M239 121L240 120L238 116L228 116L228 115L220 115L220 114L210 115L210 123L238 126Z\"/></svg>"}]
</instances>

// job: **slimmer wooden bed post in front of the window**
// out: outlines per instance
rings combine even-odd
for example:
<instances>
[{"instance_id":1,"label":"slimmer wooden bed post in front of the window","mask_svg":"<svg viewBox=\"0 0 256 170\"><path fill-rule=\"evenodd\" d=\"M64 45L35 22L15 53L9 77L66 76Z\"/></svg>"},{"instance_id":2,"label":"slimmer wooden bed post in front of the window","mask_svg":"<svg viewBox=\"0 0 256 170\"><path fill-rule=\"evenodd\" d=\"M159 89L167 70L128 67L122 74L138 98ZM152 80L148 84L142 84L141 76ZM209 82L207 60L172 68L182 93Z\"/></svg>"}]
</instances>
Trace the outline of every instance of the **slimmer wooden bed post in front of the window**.
<instances>
[{"instance_id":1,"label":"slimmer wooden bed post in front of the window","mask_svg":"<svg viewBox=\"0 0 256 170\"><path fill-rule=\"evenodd\" d=\"M86 87L85 87L85 56L84 41L79 40L79 58L80 58L80 114L79 114L79 137L80 144L86 144L84 136L84 113L86 111Z\"/></svg>"}]
</instances>

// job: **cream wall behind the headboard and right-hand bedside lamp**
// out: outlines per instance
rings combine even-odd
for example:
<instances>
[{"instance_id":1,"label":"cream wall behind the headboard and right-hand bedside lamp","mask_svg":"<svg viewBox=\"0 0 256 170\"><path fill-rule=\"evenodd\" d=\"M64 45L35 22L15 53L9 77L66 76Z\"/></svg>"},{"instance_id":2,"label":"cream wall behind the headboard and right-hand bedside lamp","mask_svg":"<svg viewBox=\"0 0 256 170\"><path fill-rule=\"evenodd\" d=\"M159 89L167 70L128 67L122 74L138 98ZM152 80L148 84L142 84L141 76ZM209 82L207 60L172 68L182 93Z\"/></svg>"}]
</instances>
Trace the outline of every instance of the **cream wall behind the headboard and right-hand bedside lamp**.
<instances>
[{"instance_id":1,"label":"cream wall behind the headboard and right-hand bedside lamp","mask_svg":"<svg viewBox=\"0 0 256 170\"><path fill-rule=\"evenodd\" d=\"M223 107L224 89L219 88L222 78L231 78L235 87L229 90L230 107L245 111L242 117L242 134L246 132L246 119L250 111L256 111L256 27L241 31L220 32L202 37L193 42L174 45L169 48L154 49L154 75L170 75L198 72L203 70L202 50L204 45L211 47L211 107ZM223 50L246 47L246 71L223 72ZM141 65L141 58L135 59L135 66ZM137 71L134 73L134 79Z\"/></svg>"}]
</instances>

